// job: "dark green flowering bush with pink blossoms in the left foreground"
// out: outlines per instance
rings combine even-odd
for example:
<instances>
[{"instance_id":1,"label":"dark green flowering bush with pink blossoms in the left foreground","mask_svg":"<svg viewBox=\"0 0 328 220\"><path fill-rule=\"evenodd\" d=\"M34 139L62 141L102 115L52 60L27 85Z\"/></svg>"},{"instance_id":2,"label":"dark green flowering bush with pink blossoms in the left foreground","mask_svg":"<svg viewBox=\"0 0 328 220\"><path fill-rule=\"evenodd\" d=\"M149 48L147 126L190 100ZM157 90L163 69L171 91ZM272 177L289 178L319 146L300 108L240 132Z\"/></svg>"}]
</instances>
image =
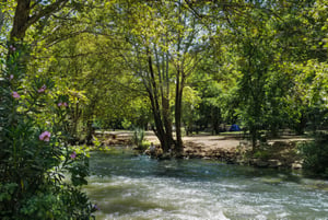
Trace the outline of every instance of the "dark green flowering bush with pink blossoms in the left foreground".
<instances>
[{"instance_id":1,"label":"dark green flowering bush with pink blossoms in the left foreground","mask_svg":"<svg viewBox=\"0 0 328 220\"><path fill-rule=\"evenodd\" d=\"M0 219L91 219L97 207L79 189L87 183L87 157L67 144L61 106L69 103L51 92L51 80L23 86L25 48L8 48L0 73Z\"/></svg>"}]
</instances>

